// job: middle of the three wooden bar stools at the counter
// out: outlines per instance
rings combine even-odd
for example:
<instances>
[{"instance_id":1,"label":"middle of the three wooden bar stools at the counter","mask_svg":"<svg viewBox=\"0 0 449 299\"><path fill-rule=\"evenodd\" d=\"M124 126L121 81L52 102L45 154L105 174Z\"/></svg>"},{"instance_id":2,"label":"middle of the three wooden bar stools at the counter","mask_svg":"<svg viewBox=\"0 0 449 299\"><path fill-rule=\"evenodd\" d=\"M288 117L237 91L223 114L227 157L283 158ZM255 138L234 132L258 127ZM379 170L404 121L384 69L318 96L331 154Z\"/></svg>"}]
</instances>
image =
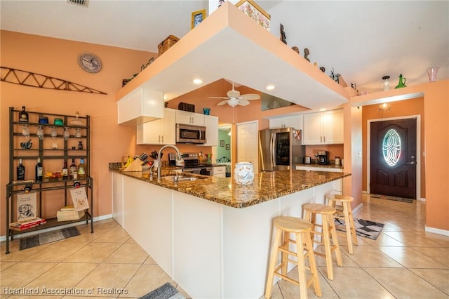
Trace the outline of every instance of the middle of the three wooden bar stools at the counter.
<instances>
[{"instance_id":1,"label":"middle of the three wooden bar stools at the counter","mask_svg":"<svg viewBox=\"0 0 449 299\"><path fill-rule=\"evenodd\" d=\"M302 209L305 211L305 220L310 221L312 225L311 239L314 243L324 246L325 253L319 253L315 251L316 255L320 255L326 258L326 267L328 268L328 279L334 279L334 272L332 266L332 252L335 251L337 257L337 265L342 265L342 253L340 252L340 246L338 246L337 231L335 230L335 223L333 220L333 214L335 208L328 206L327 204L304 204ZM316 223L316 215L321 215L322 224ZM321 227L321 231L316 230L316 227ZM314 234L321 236L321 241L315 240ZM333 244L330 243L330 237L332 237Z\"/></svg>"}]
</instances>

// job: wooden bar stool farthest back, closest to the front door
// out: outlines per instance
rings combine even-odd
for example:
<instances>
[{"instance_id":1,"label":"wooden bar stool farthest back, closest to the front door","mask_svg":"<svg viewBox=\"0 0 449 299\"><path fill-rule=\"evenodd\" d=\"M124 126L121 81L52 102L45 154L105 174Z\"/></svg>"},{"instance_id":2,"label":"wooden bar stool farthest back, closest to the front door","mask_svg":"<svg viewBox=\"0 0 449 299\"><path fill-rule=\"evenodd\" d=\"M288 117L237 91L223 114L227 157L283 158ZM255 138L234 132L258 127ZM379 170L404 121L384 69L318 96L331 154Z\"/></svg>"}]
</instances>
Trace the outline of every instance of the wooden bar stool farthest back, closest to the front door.
<instances>
[{"instance_id":1,"label":"wooden bar stool farthest back, closest to the front door","mask_svg":"<svg viewBox=\"0 0 449 299\"><path fill-rule=\"evenodd\" d=\"M348 251L354 254L352 250L352 244L358 245L356 227L354 225L354 217L352 216L351 202L354 201L353 197L338 194L326 195L329 206L335 208L334 219L344 220L346 232L337 232L339 236L347 238ZM337 204L338 203L338 204Z\"/></svg>"}]
</instances>

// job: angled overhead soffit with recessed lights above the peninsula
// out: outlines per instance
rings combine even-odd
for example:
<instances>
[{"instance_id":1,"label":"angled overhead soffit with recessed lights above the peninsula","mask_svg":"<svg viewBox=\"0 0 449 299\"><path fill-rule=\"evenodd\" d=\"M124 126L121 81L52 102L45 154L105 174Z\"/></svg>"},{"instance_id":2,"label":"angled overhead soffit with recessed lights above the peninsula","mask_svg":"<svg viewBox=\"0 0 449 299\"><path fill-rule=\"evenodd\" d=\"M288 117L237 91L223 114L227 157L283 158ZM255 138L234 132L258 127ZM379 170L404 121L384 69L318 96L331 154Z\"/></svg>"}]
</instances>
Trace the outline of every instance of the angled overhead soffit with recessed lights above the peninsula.
<instances>
[{"instance_id":1,"label":"angled overhead soffit with recessed lights above the peninsula","mask_svg":"<svg viewBox=\"0 0 449 299\"><path fill-rule=\"evenodd\" d=\"M163 92L170 100L199 88L192 84L192 79L199 77L203 86L222 78L257 91L274 84L274 91L264 92L309 109L332 109L349 101L342 86L276 36L235 6L222 7L133 79L137 82L131 81L133 84L122 88L117 100L137 87L139 81L146 88ZM168 61L173 63L163 68ZM320 81L309 77L311 73Z\"/></svg>"}]
</instances>

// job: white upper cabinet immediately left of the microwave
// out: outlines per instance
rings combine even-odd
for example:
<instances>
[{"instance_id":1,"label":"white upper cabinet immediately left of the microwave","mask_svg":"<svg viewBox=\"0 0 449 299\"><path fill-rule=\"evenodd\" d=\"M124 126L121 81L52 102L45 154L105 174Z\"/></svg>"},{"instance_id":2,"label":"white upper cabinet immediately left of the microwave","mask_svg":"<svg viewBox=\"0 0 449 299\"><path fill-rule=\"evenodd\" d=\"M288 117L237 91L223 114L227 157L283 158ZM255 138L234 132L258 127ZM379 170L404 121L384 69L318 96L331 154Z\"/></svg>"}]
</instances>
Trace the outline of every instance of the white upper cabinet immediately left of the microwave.
<instances>
[{"instance_id":1,"label":"white upper cabinet immediately left of the microwave","mask_svg":"<svg viewBox=\"0 0 449 299\"><path fill-rule=\"evenodd\" d=\"M163 119L138 124L138 145L174 145L176 143L176 110L165 108Z\"/></svg>"}]
</instances>

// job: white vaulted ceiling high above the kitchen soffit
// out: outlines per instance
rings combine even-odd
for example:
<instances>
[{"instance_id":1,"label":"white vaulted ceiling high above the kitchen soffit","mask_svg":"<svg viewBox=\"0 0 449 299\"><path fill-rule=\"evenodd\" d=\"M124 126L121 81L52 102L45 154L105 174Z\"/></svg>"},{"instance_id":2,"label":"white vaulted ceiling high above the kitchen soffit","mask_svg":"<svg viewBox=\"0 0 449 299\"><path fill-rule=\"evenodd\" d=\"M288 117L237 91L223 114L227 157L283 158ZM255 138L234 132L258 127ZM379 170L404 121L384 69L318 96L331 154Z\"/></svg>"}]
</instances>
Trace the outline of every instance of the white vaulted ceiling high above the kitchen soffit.
<instances>
[{"instance_id":1,"label":"white vaulted ceiling high above the kitchen soffit","mask_svg":"<svg viewBox=\"0 0 449 299\"><path fill-rule=\"evenodd\" d=\"M234 1L235 2L235 1ZM449 78L449 1L264 1L271 33L282 23L288 46L309 48L311 62L332 68L359 91L380 91L403 74L408 85L428 81L440 67ZM1 29L157 52L168 35L190 31L191 13L208 1L0 1ZM239 55L239 44L234 45ZM210 53L220 55L220 53ZM243 82L242 82L243 83Z\"/></svg>"}]
</instances>

